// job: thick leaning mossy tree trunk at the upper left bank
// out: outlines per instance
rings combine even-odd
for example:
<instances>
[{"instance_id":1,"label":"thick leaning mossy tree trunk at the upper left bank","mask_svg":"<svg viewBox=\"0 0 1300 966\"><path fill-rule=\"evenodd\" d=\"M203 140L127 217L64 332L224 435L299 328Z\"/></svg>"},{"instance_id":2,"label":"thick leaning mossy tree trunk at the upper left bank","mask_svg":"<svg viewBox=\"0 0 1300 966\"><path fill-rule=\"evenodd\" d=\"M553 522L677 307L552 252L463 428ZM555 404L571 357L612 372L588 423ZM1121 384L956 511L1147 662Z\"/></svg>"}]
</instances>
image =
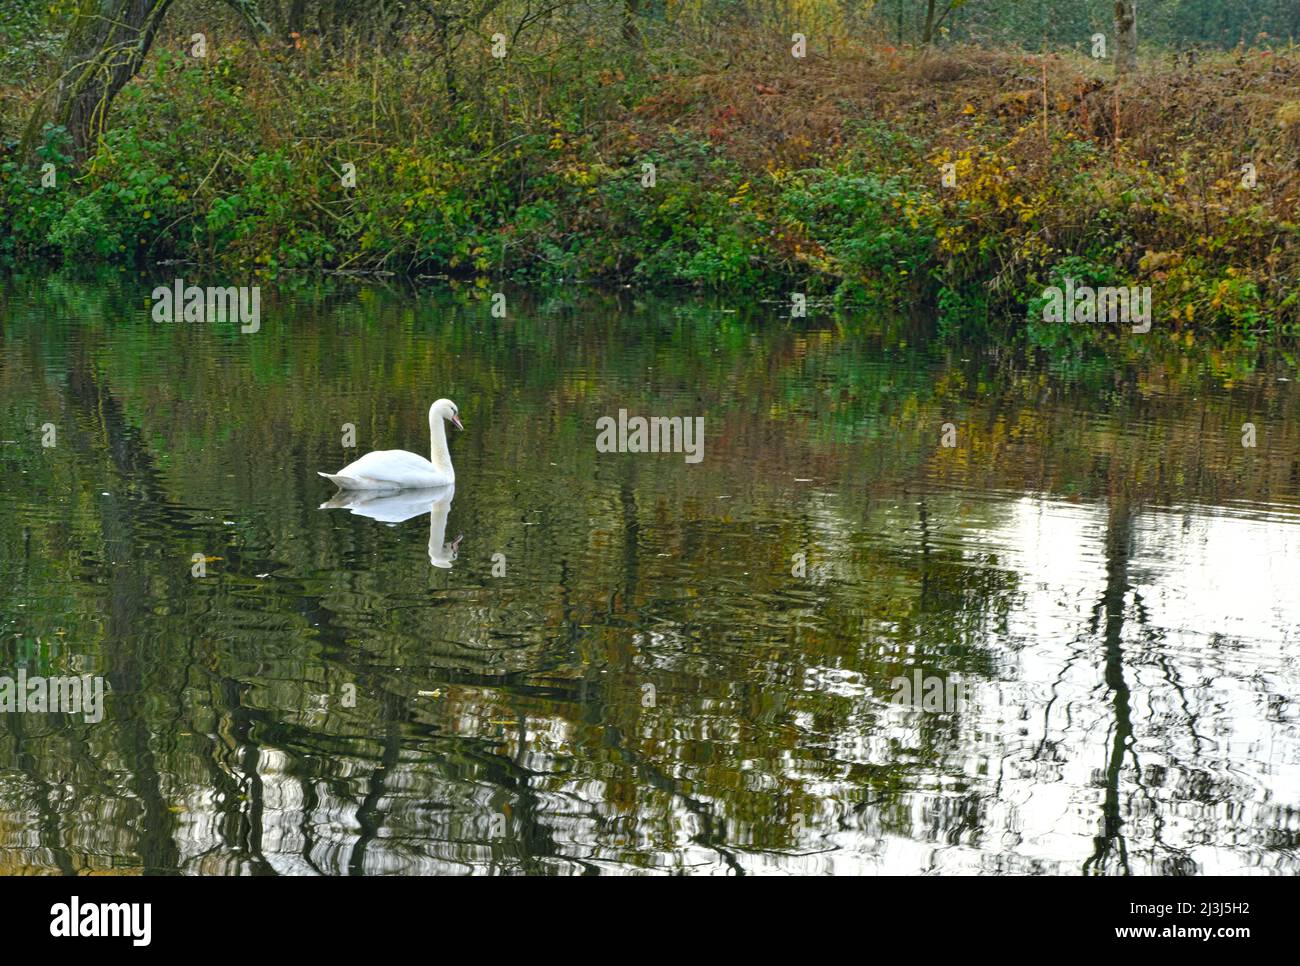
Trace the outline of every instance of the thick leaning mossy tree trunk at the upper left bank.
<instances>
[{"instance_id":1,"label":"thick leaning mossy tree trunk at the upper left bank","mask_svg":"<svg viewBox=\"0 0 1300 966\"><path fill-rule=\"evenodd\" d=\"M84 159L108 107L144 62L173 0L82 0L64 46L55 124L68 129L73 153Z\"/></svg>"}]
</instances>

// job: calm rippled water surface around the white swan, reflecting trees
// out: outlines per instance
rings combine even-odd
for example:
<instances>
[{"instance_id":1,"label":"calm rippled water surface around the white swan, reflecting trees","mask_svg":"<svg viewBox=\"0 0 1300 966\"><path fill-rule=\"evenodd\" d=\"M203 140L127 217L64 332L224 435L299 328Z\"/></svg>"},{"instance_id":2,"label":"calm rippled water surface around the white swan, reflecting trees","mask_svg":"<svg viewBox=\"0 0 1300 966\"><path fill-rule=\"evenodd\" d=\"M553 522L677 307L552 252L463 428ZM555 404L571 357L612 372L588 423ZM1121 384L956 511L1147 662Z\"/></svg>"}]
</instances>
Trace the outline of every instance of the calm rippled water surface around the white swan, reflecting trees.
<instances>
[{"instance_id":1,"label":"calm rippled water surface around the white swan, reflecting trees","mask_svg":"<svg viewBox=\"0 0 1300 966\"><path fill-rule=\"evenodd\" d=\"M0 871L1300 872L1284 360L156 281L0 282L0 675L108 688L0 714ZM454 497L322 508L441 395Z\"/></svg>"}]
</instances>

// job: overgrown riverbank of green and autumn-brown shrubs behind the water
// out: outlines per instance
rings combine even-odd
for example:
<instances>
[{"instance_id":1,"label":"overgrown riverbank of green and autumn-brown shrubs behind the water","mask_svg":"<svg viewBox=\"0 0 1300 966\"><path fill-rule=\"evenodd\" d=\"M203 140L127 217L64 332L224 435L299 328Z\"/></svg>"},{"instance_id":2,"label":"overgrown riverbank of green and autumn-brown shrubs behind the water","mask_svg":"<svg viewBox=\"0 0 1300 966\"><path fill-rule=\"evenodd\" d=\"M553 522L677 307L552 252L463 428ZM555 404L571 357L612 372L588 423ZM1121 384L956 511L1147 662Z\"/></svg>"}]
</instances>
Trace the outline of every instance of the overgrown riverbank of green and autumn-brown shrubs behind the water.
<instances>
[{"instance_id":1,"label":"overgrown riverbank of green and autumn-brown shrubs behind the water","mask_svg":"<svg viewBox=\"0 0 1300 966\"><path fill-rule=\"evenodd\" d=\"M1074 280L1149 286L1166 332L1300 324L1300 49L1122 87L975 49L742 38L723 62L550 51L545 78L484 51L448 98L416 43L156 47L83 166L57 129L23 161L34 98L6 90L5 263L798 291L946 333L1041 319Z\"/></svg>"}]
</instances>

